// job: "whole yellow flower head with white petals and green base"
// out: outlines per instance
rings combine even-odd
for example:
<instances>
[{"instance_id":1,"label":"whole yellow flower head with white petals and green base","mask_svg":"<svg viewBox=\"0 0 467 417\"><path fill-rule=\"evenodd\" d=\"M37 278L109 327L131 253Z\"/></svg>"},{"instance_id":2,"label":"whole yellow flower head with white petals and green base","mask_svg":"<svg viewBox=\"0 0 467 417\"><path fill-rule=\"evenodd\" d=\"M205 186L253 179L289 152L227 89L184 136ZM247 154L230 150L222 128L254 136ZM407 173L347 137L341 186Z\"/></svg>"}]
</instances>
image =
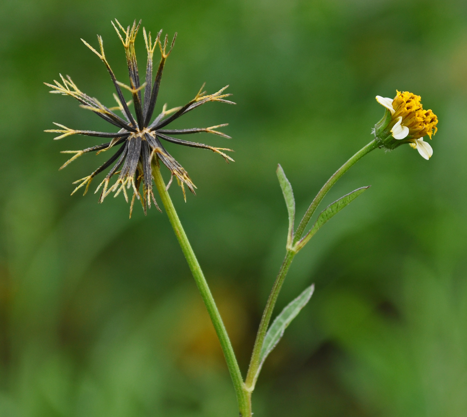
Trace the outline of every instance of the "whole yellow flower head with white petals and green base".
<instances>
[{"instance_id":1,"label":"whole yellow flower head with white petals and green base","mask_svg":"<svg viewBox=\"0 0 467 417\"><path fill-rule=\"evenodd\" d=\"M438 128L438 117L432 110L423 110L421 97L408 91L397 91L394 99L376 96L377 102L386 108L384 117L375 125L375 137L381 146L394 149L409 143L425 159L429 159L433 150L423 140L428 135L432 139Z\"/></svg>"}]
</instances>

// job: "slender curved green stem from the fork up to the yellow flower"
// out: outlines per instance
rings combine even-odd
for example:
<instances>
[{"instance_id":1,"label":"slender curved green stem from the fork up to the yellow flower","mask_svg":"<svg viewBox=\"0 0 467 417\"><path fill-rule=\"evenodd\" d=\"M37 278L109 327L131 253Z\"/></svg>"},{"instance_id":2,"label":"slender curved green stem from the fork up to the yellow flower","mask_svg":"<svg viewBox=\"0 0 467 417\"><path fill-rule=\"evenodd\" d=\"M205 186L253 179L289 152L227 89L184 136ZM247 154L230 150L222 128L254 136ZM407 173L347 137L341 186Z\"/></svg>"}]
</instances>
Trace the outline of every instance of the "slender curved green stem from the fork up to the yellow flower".
<instances>
[{"instance_id":1,"label":"slender curved green stem from the fork up to the yellow flower","mask_svg":"<svg viewBox=\"0 0 467 417\"><path fill-rule=\"evenodd\" d=\"M326 193L331 189L331 187L337 182L337 180L344 175L344 173L352 166L355 162L361 159L363 156L371 152L373 149L378 147L378 142L372 140L368 143L367 146L364 146L360 149L354 156L352 156L344 165L342 165L323 185L321 190L319 190L316 197L311 202L310 207L308 207L305 215L303 216L300 224L297 227L297 232L295 233L293 244L299 241L305 231L306 225L311 219L311 216L315 212L316 208L318 207L321 200L324 198ZM297 251L299 249L296 249ZM264 342L264 337L266 337L266 332L268 331L269 322L271 320L272 313L274 311L274 307L276 306L276 300L279 296L279 292L281 291L282 284L284 279L289 271L290 264L293 261L294 256L297 254L297 251L292 249L287 250L285 254L285 258L281 265L281 269L277 274L276 281L272 287L271 293L269 294L268 301L266 303L266 307L264 307L264 311L262 314L261 322L258 328L258 333L256 334L255 346L253 347L253 353L251 355L250 366L248 368L247 378L245 380L245 385L248 391L252 392L255 389L256 380L258 378L258 370L261 365L261 348Z\"/></svg>"}]
</instances>

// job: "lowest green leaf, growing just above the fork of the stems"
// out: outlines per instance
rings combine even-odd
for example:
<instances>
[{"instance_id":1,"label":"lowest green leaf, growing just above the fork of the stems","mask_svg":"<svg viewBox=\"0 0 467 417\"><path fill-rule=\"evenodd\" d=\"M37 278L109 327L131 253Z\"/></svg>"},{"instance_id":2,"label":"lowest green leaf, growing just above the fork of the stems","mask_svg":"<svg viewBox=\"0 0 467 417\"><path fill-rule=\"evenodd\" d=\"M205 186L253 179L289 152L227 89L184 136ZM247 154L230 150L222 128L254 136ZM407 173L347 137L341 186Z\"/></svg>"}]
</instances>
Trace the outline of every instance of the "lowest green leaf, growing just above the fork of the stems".
<instances>
[{"instance_id":1,"label":"lowest green leaf, growing just above the fork of the stems","mask_svg":"<svg viewBox=\"0 0 467 417\"><path fill-rule=\"evenodd\" d=\"M283 337L285 329L289 326L290 322L297 317L297 314L300 313L300 310L305 307L306 303L310 300L311 295L315 289L315 285L310 285L304 290L295 300L291 301L276 317L274 322L272 322L269 327L266 337L261 348L260 354L260 366L255 375L255 380L258 378L258 375L261 371L262 364L268 357L269 353L276 347L279 343L279 340Z\"/></svg>"}]
</instances>

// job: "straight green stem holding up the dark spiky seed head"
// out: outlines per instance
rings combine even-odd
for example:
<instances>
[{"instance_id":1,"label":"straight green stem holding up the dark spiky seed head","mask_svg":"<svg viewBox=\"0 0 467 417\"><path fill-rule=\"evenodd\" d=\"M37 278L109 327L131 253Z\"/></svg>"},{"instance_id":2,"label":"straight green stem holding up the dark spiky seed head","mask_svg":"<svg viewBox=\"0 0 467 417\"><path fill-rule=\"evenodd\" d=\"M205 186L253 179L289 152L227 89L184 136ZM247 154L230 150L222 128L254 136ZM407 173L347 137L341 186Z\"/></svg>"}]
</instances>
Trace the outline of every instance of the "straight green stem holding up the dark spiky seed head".
<instances>
[{"instance_id":1,"label":"straight green stem holding up the dark spiky seed head","mask_svg":"<svg viewBox=\"0 0 467 417\"><path fill-rule=\"evenodd\" d=\"M226 358L227 367L232 378L233 387L235 388L235 393L237 395L238 407L240 410L241 417L250 417L251 416L251 402L250 402L250 393L245 388L243 379L241 377L240 368L235 358L235 353L233 352L232 344L230 343L227 330L224 326L224 322L219 314L214 298L212 297L211 290L206 282L206 278L199 266L198 259L196 258L193 249L191 248L190 242L185 234L180 219L178 218L175 207L170 199L170 195L165 188L165 183L162 178L159 167L155 162L152 164L152 175L156 183L157 191L161 196L162 203L164 205L165 211L170 220L175 235L177 236L178 243L182 248L183 254L188 262L193 278L195 278L196 285L198 290L201 293L201 297L205 303L206 309L211 317L212 324L216 330L217 337L219 338L222 351L224 352L224 357Z\"/></svg>"}]
</instances>

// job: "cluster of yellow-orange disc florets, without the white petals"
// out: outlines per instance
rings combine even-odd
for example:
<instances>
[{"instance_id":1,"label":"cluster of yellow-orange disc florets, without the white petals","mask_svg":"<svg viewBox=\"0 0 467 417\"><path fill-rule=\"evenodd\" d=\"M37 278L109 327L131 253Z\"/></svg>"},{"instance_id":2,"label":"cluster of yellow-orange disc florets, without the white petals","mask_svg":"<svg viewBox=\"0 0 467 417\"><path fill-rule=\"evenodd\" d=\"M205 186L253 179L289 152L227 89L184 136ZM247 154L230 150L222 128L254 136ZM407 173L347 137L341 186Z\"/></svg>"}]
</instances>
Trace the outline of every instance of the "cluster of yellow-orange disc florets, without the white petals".
<instances>
[{"instance_id":1,"label":"cluster of yellow-orange disc florets, without the white petals","mask_svg":"<svg viewBox=\"0 0 467 417\"><path fill-rule=\"evenodd\" d=\"M396 90L397 91L397 90ZM432 139L438 128L438 117L432 110L423 110L421 97L408 91L397 91L397 95L392 102L394 114L393 120L402 117L401 124L409 128L409 135L412 139L422 138L428 135Z\"/></svg>"}]
</instances>

